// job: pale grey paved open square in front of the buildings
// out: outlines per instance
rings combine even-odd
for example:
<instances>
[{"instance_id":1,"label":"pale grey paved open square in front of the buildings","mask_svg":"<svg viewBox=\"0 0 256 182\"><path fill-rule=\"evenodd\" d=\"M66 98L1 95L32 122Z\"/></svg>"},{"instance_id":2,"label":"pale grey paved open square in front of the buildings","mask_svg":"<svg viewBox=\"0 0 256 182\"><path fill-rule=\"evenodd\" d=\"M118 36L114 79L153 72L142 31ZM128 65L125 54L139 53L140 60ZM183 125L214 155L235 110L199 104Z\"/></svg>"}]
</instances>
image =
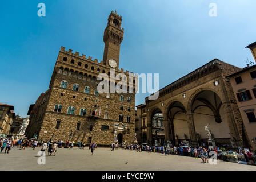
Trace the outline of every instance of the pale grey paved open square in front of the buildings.
<instances>
[{"instance_id":1,"label":"pale grey paved open square in front of the buildings","mask_svg":"<svg viewBox=\"0 0 256 182\"><path fill-rule=\"evenodd\" d=\"M147 153L110 148L97 148L93 156L89 148L69 150L61 148L56 156L46 156L46 164L37 163L37 152L31 148L19 150L14 147L9 154L0 154L0 170L256 170L256 166L223 162L217 165L203 164L201 159L186 156L165 156L159 153ZM125 164L128 162L127 164Z\"/></svg>"}]
</instances>

